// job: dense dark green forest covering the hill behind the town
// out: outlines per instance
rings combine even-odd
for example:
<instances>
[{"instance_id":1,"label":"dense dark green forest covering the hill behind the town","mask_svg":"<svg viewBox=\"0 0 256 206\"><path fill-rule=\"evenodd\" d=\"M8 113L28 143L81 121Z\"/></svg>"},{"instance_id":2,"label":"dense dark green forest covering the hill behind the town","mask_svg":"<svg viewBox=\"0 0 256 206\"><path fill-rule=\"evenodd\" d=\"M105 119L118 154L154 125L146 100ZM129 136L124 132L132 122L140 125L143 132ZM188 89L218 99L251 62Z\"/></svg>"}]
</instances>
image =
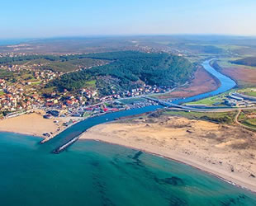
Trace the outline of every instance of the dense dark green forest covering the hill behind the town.
<instances>
[{"instance_id":1,"label":"dense dark green forest covering the hill behind the town","mask_svg":"<svg viewBox=\"0 0 256 206\"><path fill-rule=\"evenodd\" d=\"M78 90L86 82L96 80L103 95L112 90L129 90L148 85L174 87L183 84L194 72L192 63L182 57L170 54L146 54L135 51L84 54L89 59L111 61L101 67L94 67L77 73L68 73L56 79L47 87L60 90Z\"/></svg>"}]
</instances>

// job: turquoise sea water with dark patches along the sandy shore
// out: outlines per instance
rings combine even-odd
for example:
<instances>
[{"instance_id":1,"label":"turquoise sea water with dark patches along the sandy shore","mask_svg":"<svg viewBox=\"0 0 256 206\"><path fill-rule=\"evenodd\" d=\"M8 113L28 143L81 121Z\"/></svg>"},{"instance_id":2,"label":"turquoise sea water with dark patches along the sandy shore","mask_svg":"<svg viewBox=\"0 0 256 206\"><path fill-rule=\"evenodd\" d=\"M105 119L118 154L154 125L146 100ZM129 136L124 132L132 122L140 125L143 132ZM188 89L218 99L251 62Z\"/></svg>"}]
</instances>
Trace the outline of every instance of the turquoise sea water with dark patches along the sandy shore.
<instances>
[{"instance_id":1,"label":"turquoise sea water with dark patches along the sandy shore","mask_svg":"<svg viewBox=\"0 0 256 206\"><path fill-rule=\"evenodd\" d=\"M0 133L1 206L256 205L256 195L178 162L95 141L54 155Z\"/></svg>"}]
</instances>

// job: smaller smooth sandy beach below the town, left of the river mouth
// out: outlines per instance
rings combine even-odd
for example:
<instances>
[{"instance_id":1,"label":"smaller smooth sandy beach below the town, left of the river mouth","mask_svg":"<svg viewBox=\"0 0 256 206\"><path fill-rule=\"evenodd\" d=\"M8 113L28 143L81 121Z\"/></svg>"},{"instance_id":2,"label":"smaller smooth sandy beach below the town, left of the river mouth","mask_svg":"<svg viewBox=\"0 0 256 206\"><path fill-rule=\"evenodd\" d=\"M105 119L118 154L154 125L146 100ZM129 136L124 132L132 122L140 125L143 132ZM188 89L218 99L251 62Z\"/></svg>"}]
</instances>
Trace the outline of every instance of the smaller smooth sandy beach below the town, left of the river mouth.
<instances>
[{"instance_id":1,"label":"smaller smooth sandy beach below the town, left of the river mouth","mask_svg":"<svg viewBox=\"0 0 256 206\"><path fill-rule=\"evenodd\" d=\"M58 120L59 123L54 123ZM43 133L58 133L58 129L64 129L63 120L59 118L44 119L39 113L20 115L0 121L0 131L23 133L43 137Z\"/></svg>"}]
</instances>

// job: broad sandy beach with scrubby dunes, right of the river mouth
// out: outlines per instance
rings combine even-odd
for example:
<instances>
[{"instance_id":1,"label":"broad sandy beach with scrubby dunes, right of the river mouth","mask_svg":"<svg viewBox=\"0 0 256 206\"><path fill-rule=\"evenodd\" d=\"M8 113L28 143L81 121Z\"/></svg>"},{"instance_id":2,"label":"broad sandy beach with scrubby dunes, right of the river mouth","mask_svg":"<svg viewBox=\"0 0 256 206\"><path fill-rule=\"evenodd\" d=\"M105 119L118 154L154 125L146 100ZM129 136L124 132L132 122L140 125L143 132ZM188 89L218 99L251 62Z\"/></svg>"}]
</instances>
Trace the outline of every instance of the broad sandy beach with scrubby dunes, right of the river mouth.
<instances>
[{"instance_id":1,"label":"broad sandy beach with scrubby dunes, right of the river mouth","mask_svg":"<svg viewBox=\"0 0 256 206\"><path fill-rule=\"evenodd\" d=\"M256 137L239 127L179 117L100 124L81 135L197 167L256 192Z\"/></svg>"}]
</instances>

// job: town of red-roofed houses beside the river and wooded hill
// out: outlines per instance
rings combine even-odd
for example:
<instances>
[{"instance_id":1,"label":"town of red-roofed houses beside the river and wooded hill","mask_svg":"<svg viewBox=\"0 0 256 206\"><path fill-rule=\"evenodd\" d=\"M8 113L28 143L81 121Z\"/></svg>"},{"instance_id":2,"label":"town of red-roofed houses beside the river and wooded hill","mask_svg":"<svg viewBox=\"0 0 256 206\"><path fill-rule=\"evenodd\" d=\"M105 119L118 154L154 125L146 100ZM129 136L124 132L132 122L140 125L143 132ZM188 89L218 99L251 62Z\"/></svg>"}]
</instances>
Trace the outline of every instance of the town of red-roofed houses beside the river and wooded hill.
<instances>
[{"instance_id":1,"label":"town of red-roofed houses beside the river and wooded hill","mask_svg":"<svg viewBox=\"0 0 256 206\"><path fill-rule=\"evenodd\" d=\"M7 54L5 55L7 56ZM22 56L23 54L20 55ZM8 55L8 57L12 56L13 54ZM112 91L109 96L99 96L95 87L83 87L78 93L67 91L66 89L63 92L47 91L45 85L64 73L44 69L44 65L43 63L23 63L0 66L0 111L2 119L22 115L34 110L44 110L45 118L51 118L52 116L88 117L142 106L141 104L124 104L118 100L164 93L171 89L143 85L129 91L120 91L118 93ZM149 103L144 103L144 105L149 105ZM53 110L58 112L51 112Z\"/></svg>"}]
</instances>

